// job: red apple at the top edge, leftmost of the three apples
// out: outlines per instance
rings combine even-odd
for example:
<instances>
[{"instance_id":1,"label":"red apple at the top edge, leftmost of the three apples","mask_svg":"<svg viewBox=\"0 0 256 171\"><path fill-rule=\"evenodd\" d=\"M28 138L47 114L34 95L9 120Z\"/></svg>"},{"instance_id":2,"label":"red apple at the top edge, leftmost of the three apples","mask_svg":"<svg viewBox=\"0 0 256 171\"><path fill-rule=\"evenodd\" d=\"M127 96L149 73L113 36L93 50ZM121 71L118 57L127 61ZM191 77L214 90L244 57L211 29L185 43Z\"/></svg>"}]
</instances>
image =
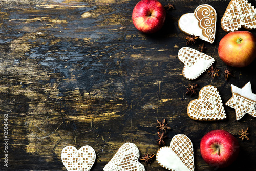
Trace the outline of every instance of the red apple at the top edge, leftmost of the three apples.
<instances>
[{"instance_id":1,"label":"red apple at the top edge, leftmost of the three apples","mask_svg":"<svg viewBox=\"0 0 256 171\"><path fill-rule=\"evenodd\" d=\"M141 0L133 9L133 24L143 33L155 33L164 24L166 12L157 0Z\"/></svg>"}]
</instances>

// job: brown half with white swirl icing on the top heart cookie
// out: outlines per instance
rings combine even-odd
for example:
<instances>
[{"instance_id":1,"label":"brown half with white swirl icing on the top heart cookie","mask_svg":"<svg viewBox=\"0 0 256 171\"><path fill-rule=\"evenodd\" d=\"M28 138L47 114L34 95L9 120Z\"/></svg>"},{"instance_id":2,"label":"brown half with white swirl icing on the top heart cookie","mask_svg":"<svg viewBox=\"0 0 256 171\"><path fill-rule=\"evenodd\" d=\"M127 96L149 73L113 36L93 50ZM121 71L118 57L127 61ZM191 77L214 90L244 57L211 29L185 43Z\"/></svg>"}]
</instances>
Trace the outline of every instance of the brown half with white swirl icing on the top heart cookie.
<instances>
[{"instance_id":1,"label":"brown half with white swirl icing on the top heart cookie","mask_svg":"<svg viewBox=\"0 0 256 171\"><path fill-rule=\"evenodd\" d=\"M210 42L214 42L215 38L215 22L216 11L208 5L200 5L196 8L195 17L198 19L198 26L202 29L202 34L208 38Z\"/></svg>"}]
</instances>

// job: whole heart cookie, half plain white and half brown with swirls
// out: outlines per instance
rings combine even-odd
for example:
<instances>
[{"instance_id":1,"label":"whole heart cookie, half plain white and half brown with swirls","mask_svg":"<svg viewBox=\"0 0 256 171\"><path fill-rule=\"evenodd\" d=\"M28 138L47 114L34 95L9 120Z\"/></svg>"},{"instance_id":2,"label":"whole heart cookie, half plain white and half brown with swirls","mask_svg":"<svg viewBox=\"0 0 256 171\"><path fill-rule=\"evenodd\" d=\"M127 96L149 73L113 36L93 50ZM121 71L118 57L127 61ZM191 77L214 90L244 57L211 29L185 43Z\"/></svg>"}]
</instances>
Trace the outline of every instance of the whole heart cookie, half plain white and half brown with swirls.
<instances>
[{"instance_id":1,"label":"whole heart cookie, half plain white and half brown with swirls","mask_svg":"<svg viewBox=\"0 0 256 171\"><path fill-rule=\"evenodd\" d=\"M194 13L182 15L178 26L182 32L199 36L212 44L216 32L216 11L208 4L199 5Z\"/></svg>"}]
</instances>

